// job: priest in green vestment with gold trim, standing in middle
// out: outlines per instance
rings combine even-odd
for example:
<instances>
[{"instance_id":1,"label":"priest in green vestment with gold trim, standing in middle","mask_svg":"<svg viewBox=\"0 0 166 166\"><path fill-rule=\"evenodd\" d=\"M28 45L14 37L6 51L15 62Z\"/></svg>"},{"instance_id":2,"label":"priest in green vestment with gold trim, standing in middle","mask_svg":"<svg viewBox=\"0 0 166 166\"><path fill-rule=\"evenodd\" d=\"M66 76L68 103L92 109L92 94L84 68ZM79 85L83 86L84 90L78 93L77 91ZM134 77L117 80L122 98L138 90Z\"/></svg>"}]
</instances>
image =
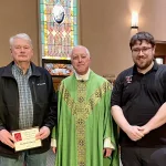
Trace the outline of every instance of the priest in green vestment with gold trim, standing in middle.
<instances>
[{"instance_id":1,"label":"priest in green vestment with gold trim, standing in middle","mask_svg":"<svg viewBox=\"0 0 166 166\"><path fill-rule=\"evenodd\" d=\"M55 166L118 166L111 85L90 69L85 46L72 50L71 62L74 74L61 82L58 127L52 134L53 152L58 152Z\"/></svg>"}]
</instances>

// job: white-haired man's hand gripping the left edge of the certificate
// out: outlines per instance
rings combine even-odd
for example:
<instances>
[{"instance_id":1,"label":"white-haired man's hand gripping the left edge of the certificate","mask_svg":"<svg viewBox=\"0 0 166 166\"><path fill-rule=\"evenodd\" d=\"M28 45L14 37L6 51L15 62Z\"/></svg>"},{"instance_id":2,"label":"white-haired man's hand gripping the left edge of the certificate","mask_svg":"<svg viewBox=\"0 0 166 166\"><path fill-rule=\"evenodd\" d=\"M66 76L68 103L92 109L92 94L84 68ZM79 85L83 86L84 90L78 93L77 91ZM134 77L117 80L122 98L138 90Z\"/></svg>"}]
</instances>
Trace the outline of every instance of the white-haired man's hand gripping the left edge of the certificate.
<instances>
[{"instance_id":1,"label":"white-haired man's hand gripping the left edge of the certificate","mask_svg":"<svg viewBox=\"0 0 166 166\"><path fill-rule=\"evenodd\" d=\"M7 131L7 129L1 129L0 131L0 141L10 146L11 148L14 148L14 142L15 139L12 137L12 135Z\"/></svg>"}]
</instances>

